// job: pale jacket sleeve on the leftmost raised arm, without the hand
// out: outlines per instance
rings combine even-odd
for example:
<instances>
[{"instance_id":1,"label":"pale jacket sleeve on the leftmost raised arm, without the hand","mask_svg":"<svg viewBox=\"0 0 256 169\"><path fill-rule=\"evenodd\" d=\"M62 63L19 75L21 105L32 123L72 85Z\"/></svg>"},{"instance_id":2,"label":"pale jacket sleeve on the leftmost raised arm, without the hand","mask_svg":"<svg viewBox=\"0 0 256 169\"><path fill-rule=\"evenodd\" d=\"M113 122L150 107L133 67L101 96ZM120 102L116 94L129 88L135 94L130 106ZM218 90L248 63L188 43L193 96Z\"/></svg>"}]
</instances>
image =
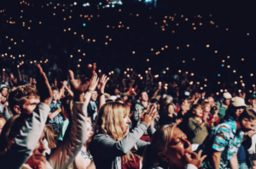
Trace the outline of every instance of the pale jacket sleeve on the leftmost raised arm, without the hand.
<instances>
[{"instance_id":1,"label":"pale jacket sleeve on the leftmost raised arm, without the hand","mask_svg":"<svg viewBox=\"0 0 256 169\"><path fill-rule=\"evenodd\" d=\"M34 112L28 115L25 126L15 137L15 144L0 158L1 168L19 169L26 162L44 131L48 114L49 105L39 103Z\"/></svg>"}]
</instances>

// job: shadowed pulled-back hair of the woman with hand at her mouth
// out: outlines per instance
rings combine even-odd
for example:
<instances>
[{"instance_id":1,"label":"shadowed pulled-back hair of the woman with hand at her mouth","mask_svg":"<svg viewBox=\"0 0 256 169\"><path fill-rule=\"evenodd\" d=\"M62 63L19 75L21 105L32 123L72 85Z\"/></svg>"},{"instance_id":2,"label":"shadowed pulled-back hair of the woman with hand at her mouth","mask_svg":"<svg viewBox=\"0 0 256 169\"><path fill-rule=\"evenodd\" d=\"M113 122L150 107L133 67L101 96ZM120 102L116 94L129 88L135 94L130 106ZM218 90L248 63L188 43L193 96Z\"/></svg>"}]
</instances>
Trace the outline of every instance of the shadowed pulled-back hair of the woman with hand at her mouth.
<instances>
[{"instance_id":1,"label":"shadowed pulled-back hair of the woman with hand at her mouth","mask_svg":"<svg viewBox=\"0 0 256 169\"><path fill-rule=\"evenodd\" d=\"M143 169L151 166L163 166L167 168L166 162L159 157L160 152L166 152L168 144L172 141L173 130L176 124L164 125L154 132L151 144L147 146L143 155Z\"/></svg>"}]
</instances>

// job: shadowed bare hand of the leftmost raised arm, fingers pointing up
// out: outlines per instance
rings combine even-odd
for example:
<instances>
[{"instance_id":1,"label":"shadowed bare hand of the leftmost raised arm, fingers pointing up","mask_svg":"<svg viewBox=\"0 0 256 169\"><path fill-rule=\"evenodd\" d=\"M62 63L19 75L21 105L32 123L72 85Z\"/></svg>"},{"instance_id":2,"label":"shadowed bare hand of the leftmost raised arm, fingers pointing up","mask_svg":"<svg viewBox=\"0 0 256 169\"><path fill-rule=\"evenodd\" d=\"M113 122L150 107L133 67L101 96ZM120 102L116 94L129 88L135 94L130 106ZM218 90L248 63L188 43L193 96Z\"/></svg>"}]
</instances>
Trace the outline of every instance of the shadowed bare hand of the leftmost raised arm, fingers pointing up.
<instances>
[{"instance_id":1,"label":"shadowed bare hand of the leftmost raised arm, fingers pointing up","mask_svg":"<svg viewBox=\"0 0 256 169\"><path fill-rule=\"evenodd\" d=\"M44 102L44 104L50 105L52 100L52 91L51 87L49 86L48 79L40 65L37 65L37 82L36 86L38 89L38 94L40 96L41 101Z\"/></svg>"}]
</instances>

